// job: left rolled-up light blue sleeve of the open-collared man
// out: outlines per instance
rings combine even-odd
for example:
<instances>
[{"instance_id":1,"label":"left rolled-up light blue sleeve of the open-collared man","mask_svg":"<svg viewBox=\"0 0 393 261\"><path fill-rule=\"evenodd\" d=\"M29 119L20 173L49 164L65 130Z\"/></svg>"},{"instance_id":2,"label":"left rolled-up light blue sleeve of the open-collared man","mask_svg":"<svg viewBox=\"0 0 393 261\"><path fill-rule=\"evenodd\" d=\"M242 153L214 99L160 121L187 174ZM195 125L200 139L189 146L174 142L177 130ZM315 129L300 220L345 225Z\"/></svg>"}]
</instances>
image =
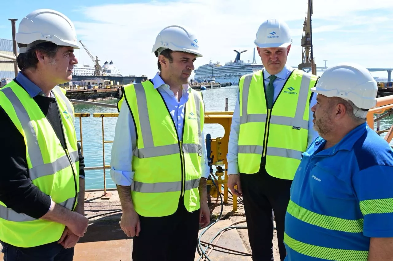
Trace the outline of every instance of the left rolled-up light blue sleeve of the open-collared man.
<instances>
[{"instance_id":1,"label":"left rolled-up light blue sleeve of the open-collared man","mask_svg":"<svg viewBox=\"0 0 393 261\"><path fill-rule=\"evenodd\" d=\"M127 104L123 104L116 122L113 139L110 177L121 186L130 186L134 178L132 171L132 152L136 147L136 131L134 120Z\"/></svg>"}]
</instances>

